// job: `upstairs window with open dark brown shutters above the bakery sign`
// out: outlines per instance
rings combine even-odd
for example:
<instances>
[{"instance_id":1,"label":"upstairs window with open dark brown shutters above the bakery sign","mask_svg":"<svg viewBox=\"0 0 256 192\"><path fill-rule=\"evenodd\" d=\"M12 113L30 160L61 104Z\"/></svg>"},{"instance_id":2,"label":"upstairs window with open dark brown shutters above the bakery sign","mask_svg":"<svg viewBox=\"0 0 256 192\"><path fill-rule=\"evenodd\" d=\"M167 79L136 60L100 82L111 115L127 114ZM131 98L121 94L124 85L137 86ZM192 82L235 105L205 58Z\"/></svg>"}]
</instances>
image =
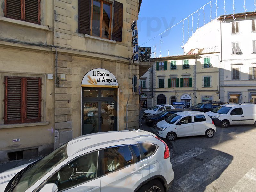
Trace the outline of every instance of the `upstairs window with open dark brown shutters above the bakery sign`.
<instances>
[{"instance_id":1,"label":"upstairs window with open dark brown shutters above the bakery sign","mask_svg":"<svg viewBox=\"0 0 256 192\"><path fill-rule=\"evenodd\" d=\"M111 39L112 4L103 0L79 0L80 33ZM114 1L112 40L122 41L123 4Z\"/></svg>"}]
</instances>

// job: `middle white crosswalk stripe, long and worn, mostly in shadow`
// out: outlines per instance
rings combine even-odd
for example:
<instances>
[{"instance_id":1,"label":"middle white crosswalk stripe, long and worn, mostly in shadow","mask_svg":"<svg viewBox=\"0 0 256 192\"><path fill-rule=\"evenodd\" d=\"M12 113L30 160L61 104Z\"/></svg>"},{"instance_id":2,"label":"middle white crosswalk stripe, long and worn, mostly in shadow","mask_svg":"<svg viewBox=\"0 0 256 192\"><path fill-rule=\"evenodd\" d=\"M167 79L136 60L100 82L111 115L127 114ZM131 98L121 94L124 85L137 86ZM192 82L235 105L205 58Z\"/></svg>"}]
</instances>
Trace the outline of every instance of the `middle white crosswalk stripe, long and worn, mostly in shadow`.
<instances>
[{"instance_id":1,"label":"middle white crosswalk stripe, long and worn, mostly in shadow","mask_svg":"<svg viewBox=\"0 0 256 192\"><path fill-rule=\"evenodd\" d=\"M186 192L193 191L204 181L210 179L213 175L218 174L218 172L230 163L231 159L219 155L176 180L175 183Z\"/></svg>"}]
</instances>

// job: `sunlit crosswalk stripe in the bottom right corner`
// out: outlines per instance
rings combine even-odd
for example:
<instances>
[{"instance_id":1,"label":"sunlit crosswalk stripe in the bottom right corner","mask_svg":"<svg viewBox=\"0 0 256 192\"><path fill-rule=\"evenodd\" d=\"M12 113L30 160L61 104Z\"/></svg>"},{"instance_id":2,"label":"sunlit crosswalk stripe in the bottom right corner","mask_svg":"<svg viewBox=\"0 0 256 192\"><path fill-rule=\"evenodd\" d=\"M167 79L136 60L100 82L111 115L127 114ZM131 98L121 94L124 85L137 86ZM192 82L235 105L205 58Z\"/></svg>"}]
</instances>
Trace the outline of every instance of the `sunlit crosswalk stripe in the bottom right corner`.
<instances>
[{"instance_id":1,"label":"sunlit crosswalk stripe in the bottom right corner","mask_svg":"<svg viewBox=\"0 0 256 192\"><path fill-rule=\"evenodd\" d=\"M252 168L228 192L252 192L256 186L256 169Z\"/></svg>"}]
</instances>

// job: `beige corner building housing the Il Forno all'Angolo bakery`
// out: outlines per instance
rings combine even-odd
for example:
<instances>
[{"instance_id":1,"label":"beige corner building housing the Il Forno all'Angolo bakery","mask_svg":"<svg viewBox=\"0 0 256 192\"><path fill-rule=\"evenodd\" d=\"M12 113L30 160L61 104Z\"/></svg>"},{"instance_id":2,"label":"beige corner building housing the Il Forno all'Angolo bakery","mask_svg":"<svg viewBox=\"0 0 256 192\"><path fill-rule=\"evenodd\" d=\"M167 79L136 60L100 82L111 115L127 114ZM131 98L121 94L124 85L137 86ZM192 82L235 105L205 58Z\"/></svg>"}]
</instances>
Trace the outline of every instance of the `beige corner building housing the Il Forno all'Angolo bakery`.
<instances>
[{"instance_id":1,"label":"beige corner building housing the Il Forno all'Angolo bakery","mask_svg":"<svg viewBox=\"0 0 256 192\"><path fill-rule=\"evenodd\" d=\"M131 24L141 0L0 0L0 162L138 127Z\"/></svg>"}]
</instances>

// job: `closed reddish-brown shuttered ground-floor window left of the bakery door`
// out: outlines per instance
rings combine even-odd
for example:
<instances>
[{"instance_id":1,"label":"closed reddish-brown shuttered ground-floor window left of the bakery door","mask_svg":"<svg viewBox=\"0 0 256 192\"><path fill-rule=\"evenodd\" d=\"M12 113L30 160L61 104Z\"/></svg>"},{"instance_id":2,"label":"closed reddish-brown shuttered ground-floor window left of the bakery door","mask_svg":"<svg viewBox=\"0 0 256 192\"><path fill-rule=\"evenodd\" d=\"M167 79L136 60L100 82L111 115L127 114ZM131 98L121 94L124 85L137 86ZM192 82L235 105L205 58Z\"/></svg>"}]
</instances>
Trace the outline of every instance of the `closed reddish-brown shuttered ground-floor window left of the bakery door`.
<instances>
[{"instance_id":1,"label":"closed reddish-brown shuttered ground-floor window left of the bakery door","mask_svg":"<svg viewBox=\"0 0 256 192\"><path fill-rule=\"evenodd\" d=\"M41 121L41 78L5 77L4 124Z\"/></svg>"}]
</instances>

